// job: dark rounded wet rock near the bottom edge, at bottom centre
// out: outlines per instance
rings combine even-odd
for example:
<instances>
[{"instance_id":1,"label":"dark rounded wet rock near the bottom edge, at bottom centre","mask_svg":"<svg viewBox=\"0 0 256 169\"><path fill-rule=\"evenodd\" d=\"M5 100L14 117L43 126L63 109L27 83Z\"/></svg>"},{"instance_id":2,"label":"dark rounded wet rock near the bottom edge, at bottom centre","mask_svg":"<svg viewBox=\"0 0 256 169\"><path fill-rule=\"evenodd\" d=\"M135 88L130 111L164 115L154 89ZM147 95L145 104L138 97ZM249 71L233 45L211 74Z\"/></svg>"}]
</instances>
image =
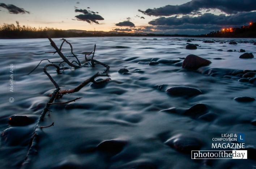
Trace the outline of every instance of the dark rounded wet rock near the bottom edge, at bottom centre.
<instances>
[{"instance_id":1,"label":"dark rounded wet rock near the bottom edge, at bottom centre","mask_svg":"<svg viewBox=\"0 0 256 169\"><path fill-rule=\"evenodd\" d=\"M110 154L118 154L123 150L126 144L127 144L126 141L107 140L99 143L99 145L96 147L96 150L103 151Z\"/></svg>"}]
</instances>

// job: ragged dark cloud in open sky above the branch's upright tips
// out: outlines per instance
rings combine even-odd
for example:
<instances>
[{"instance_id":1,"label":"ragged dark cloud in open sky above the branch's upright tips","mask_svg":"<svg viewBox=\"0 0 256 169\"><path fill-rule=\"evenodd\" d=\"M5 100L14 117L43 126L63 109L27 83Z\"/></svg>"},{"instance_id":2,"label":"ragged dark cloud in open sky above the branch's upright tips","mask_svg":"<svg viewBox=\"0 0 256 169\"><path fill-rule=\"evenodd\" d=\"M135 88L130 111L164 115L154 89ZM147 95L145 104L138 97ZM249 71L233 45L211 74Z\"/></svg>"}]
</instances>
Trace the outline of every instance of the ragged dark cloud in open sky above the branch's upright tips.
<instances>
[{"instance_id":1,"label":"ragged dark cloud in open sky above the branch's upright tips","mask_svg":"<svg viewBox=\"0 0 256 169\"><path fill-rule=\"evenodd\" d=\"M102 18L101 15L98 15L98 12L93 12L93 11L86 10L86 9L76 9L75 12L83 13L83 14L75 16L77 18L77 20L83 20L88 23L91 23L91 22L98 23L97 20L104 20L104 18Z\"/></svg>"}]
</instances>

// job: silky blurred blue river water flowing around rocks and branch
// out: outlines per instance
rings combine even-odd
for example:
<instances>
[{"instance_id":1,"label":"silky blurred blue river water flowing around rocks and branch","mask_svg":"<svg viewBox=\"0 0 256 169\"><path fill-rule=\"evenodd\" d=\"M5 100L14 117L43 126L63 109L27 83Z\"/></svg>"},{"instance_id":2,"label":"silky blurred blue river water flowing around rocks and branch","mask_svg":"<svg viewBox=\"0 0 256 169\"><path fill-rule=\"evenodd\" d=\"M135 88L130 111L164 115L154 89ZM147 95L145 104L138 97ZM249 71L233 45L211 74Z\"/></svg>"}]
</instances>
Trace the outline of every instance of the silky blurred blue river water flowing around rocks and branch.
<instances>
[{"instance_id":1,"label":"silky blurred blue river water flowing around rocks and branch","mask_svg":"<svg viewBox=\"0 0 256 169\"><path fill-rule=\"evenodd\" d=\"M52 40L57 46L62 42ZM188 38L182 37L67 40L81 62L84 61L82 52L93 51L96 44L94 59L110 66L111 81L101 87L93 87L90 83L55 102L82 99L50 106L50 116L46 115L41 125L54 122L54 126L43 128L39 134L37 154L27 165L29 168L208 169L256 166L255 149L254 157L248 155L248 159L196 160L191 159L191 153L180 152L166 143L172 137L196 138L200 141L200 150L234 150L214 149L213 143L231 141L213 141L213 138L222 138L225 133L244 133L245 147L256 146L255 123L251 124L256 120L256 101L234 100L240 96L256 98L256 84L240 82L241 77L225 73L227 69L255 71L255 58L239 58L243 54L240 49L256 54L255 39L216 38L213 39L215 43L204 43L207 39L194 38L189 43L198 44L196 50L185 49ZM230 45L231 40L238 44ZM57 53L45 53L48 51L55 51L48 39L0 40L1 168L22 167L37 118L49 94L55 90L42 70L48 61L42 61L28 75L42 59L62 61ZM64 44L61 51L66 56L71 55L68 44ZM182 61L189 54L210 60L212 63L202 69L219 68L216 69L217 75L182 68ZM149 65L152 61L159 64ZM63 86L63 90L74 88L105 69L102 65L79 69L62 65L64 71L61 74L57 74L53 67L48 67L47 71ZM118 73L122 68L129 72ZM177 86L197 88L202 94L188 97L166 92L167 88ZM184 111L196 104L206 105L203 116L185 115ZM12 115L26 115L35 120L26 126L11 126L8 120ZM96 148L104 141L110 141L108 148Z\"/></svg>"}]
</instances>

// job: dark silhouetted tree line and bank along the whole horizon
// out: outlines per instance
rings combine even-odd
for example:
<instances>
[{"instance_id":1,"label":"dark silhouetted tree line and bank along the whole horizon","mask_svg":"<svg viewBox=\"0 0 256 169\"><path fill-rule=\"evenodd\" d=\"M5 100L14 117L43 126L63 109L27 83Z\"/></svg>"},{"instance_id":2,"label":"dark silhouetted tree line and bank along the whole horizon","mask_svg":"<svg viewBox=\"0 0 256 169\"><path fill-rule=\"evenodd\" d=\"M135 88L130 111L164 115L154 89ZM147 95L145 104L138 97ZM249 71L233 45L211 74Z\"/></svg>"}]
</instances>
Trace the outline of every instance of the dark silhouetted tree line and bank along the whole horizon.
<instances>
[{"instance_id":1,"label":"dark silhouetted tree line and bank along the whole horizon","mask_svg":"<svg viewBox=\"0 0 256 169\"><path fill-rule=\"evenodd\" d=\"M106 36L137 36L137 37L256 37L256 23L252 23L249 26L243 26L241 28L233 28L232 32L227 31L213 31L206 35L166 35L166 34L142 34L142 33L104 33L104 32L74 32L63 31L61 29L54 28L35 28L31 26L20 26L16 21L14 24L3 24L0 26L0 38L46 38L46 35L50 35L52 38L67 38L67 37L106 37Z\"/></svg>"}]
</instances>

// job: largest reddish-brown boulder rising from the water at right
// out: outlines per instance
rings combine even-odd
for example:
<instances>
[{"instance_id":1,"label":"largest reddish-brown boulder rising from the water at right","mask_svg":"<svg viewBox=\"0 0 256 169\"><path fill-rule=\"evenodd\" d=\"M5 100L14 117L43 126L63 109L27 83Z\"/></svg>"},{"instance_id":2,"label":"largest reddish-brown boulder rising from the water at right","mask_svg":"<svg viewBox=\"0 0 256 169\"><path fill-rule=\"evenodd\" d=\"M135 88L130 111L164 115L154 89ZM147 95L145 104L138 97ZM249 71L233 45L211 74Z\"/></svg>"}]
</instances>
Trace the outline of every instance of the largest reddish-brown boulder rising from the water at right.
<instances>
[{"instance_id":1,"label":"largest reddish-brown boulder rising from the water at right","mask_svg":"<svg viewBox=\"0 0 256 169\"><path fill-rule=\"evenodd\" d=\"M212 62L209 60L191 54L184 59L182 67L186 69L198 69L200 67L207 66L210 63Z\"/></svg>"}]
</instances>

